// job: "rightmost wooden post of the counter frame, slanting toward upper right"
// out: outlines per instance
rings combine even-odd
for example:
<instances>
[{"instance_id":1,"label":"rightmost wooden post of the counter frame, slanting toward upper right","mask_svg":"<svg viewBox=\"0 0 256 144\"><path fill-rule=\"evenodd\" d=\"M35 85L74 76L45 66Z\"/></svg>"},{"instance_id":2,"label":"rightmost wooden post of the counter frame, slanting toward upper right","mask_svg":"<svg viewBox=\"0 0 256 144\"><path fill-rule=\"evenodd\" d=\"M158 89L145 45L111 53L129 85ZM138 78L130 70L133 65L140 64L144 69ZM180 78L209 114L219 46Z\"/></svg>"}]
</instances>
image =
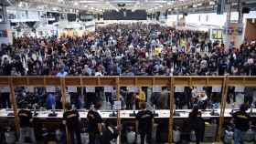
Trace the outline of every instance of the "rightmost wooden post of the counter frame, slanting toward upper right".
<instances>
[{"instance_id":1,"label":"rightmost wooden post of the counter frame, slanting toward upper right","mask_svg":"<svg viewBox=\"0 0 256 144\"><path fill-rule=\"evenodd\" d=\"M229 87L227 85L227 77L224 77L223 84L222 84L222 94L221 94L221 104L220 104L218 137L216 139L218 142L221 139L222 125L224 123L224 114L225 114L225 107L226 107L226 99L227 99L228 88Z\"/></svg>"}]
</instances>

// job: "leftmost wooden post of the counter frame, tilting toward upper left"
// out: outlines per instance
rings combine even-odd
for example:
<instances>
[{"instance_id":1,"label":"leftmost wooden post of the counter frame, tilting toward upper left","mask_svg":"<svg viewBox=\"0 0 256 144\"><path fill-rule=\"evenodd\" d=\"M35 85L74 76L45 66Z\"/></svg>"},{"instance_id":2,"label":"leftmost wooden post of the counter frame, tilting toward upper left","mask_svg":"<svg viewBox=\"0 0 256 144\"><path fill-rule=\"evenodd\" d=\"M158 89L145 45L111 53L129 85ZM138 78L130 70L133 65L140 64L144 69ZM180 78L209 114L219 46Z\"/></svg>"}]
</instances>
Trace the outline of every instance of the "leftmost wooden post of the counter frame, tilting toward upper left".
<instances>
[{"instance_id":1,"label":"leftmost wooden post of the counter frame, tilting toward upper left","mask_svg":"<svg viewBox=\"0 0 256 144\"><path fill-rule=\"evenodd\" d=\"M19 132L19 118L18 118L18 110L17 110L17 106L16 106L16 96L15 96L15 87L13 84L13 78L9 77L8 78L9 81L9 87L10 87L10 100L12 103L12 107L14 109L14 114L15 114L15 125L16 125L16 132Z\"/></svg>"}]
</instances>

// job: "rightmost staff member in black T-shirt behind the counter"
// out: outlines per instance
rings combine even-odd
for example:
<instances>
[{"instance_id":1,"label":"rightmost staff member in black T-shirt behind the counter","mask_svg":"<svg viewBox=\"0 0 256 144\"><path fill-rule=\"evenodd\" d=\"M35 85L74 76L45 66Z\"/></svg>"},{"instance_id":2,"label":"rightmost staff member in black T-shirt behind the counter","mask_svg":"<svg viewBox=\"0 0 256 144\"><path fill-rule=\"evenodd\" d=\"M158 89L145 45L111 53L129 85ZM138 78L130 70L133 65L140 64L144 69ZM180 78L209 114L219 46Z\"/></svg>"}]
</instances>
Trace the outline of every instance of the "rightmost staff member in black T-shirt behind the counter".
<instances>
[{"instance_id":1,"label":"rightmost staff member in black T-shirt behind the counter","mask_svg":"<svg viewBox=\"0 0 256 144\"><path fill-rule=\"evenodd\" d=\"M240 105L240 111L233 114L231 123L235 125L234 130L234 144L242 144L246 131L250 129L250 115L246 113L248 106L246 104Z\"/></svg>"}]
</instances>

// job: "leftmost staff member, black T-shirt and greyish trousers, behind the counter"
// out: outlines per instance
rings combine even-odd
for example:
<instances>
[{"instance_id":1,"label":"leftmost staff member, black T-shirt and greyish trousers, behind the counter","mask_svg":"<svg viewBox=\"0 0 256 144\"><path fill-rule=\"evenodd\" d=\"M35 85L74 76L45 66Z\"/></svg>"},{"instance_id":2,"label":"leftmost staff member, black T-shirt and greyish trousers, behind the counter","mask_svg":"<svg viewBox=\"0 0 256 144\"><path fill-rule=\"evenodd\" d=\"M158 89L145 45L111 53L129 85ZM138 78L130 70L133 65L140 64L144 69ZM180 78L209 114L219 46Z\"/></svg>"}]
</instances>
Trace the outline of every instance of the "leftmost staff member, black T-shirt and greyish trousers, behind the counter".
<instances>
[{"instance_id":1,"label":"leftmost staff member, black T-shirt and greyish trousers, behind the counter","mask_svg":"<svg viewBox=\"0 0 256 144\"><path fill-rule=\"evenodd\" d=\"M33 144L37 143L35 132L33 129L33 118L31 111L25 106L21 110L18 111L19 117L19 125L20 125L20 132L19 132L19 143L24 144L26 142L27 133L29 133L28 137L30 138Z\"/></svg>"}]
</instances>

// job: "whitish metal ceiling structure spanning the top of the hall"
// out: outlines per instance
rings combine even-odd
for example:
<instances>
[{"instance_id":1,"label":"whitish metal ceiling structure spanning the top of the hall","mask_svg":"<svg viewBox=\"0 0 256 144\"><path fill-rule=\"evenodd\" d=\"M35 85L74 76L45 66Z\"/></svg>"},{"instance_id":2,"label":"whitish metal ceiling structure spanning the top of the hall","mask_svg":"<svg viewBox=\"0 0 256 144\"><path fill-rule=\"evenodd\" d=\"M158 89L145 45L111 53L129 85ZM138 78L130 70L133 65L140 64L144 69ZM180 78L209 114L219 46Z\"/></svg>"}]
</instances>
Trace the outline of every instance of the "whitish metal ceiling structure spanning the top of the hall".
<instances>
[{"instance_id":1,"label":"whitish metal ceiling structure spanning the top of the hall","mask_svg":"<svg viewBox=\"0 0 256 144\"><path fill-rule=\"evenodd\" d=\"M238 2L256 8L256 0L229 0L234 9ZM102 13L105 10L144 9L148 13L158 11L183 11L187 13L216 11L219 0L6 0L11 7L33 8L61 12L88 11Z\"/></svg>"}]
</instances>

